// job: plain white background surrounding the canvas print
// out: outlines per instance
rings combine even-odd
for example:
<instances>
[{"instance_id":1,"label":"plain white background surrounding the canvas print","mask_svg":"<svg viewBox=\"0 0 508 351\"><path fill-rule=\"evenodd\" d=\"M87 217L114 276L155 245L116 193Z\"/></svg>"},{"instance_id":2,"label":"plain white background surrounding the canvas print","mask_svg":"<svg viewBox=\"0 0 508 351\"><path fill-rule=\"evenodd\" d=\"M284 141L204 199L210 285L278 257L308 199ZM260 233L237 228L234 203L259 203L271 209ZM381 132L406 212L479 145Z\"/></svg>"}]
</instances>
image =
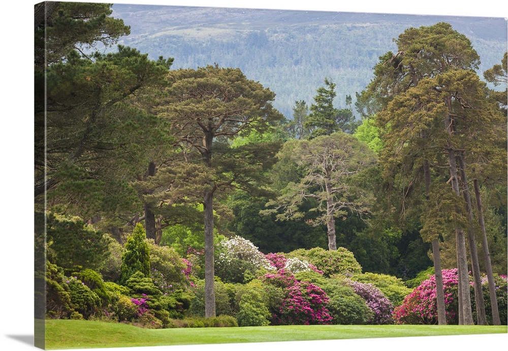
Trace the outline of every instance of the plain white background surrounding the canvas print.
<instances>
[{"instance_id":1,"label":"plain white background surrounding the canvas print","mask_svg":"<svg viewBox=\"0 0 508 351\"><path fill-rule=\"evenodd\" d=\"M79 1L79 0L78 0ZM111 2L111 1L110 1ZM2 349L26 350L31 346L33 337L33 8L38 1L11 0L3 4L2 26L2 328L0 345ZM213 6L320 10L344 12L404 13L428 15L458 15L508 17L508 5L500 5L499 0L482 1L375 1L348 0L331 2L330 0L122 0L123 4L174 5L174 6ZM479 6L481 5L481 7ZM245 351L263 348L266 351L292 348L358 349L375 348L393 350L397 348L411 351L428 351L437 342L439 349L468 349L482 345L506 345L508 334L484 336L453 336L395 339L337 340L321 342L290 342L263 344L229 344L211 347L211 350ZM495 346L494 346L495 347ZM130 347L104 348L95 350L129 351L194 351L205 346L171 347ZM206 348L210 350L210 348Z\"/></svg>"}]
</instances>

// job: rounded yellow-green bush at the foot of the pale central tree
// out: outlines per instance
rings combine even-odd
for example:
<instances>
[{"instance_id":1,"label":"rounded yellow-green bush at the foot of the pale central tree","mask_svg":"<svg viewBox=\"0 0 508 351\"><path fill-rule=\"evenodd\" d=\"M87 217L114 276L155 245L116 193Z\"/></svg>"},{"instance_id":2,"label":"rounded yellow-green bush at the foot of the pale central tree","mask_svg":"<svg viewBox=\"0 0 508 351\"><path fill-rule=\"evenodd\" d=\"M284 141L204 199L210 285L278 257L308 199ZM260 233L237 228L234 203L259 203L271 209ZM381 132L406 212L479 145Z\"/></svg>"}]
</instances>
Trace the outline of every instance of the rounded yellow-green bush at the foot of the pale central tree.
<instances>
[{"instance_id":1,"label":"rounded yellow-green bush at the foot of the pale central tree","mask_svg":"<svg viewBox=\"0 0 508 351\"><path fill-rule=\"evenodd\" d=\"M321 247L314 247L310 250L298 249L287 253L286 257L296 257L310 262L317 269L323 271L325 277L334 274L351 275L362 272L362 267L356 261L353 253L343 247L338 247L337 250L325 250Z\"/></svg>"}]
</instances>

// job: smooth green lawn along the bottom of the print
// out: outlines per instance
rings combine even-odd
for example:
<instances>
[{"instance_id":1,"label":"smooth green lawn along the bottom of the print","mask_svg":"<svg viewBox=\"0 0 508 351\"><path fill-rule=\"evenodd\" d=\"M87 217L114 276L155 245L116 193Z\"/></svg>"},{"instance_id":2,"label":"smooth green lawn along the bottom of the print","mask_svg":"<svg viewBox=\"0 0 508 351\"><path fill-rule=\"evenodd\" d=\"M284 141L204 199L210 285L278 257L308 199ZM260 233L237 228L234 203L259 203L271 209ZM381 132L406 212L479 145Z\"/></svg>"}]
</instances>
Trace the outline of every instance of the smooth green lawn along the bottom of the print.
<instances>
[{"instance_id":1,"label":"smooth green lawn along the bottom of the print","mask_svg":"<svg viewBox=\"0 0 508 351\"><path fill-rule=\"evenodd\" d=\"M270 326L142 329L118 323L46 321L46 348L163 346L264 341L507 333L506 326Z\"/></svg>"}]
</instances>

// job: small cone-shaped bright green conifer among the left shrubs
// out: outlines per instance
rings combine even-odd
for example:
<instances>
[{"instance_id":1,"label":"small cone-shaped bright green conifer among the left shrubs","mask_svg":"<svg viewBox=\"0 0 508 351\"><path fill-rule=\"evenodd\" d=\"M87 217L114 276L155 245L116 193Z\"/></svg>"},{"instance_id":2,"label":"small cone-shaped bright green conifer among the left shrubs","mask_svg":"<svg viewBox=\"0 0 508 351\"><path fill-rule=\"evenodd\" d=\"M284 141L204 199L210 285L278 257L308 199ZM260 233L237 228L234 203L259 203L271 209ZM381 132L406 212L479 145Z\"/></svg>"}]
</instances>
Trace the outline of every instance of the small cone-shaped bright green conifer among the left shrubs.
<instances>
[{"instance_id":1,"label":"small cone-shaped bright green conifer among the left shrubs","mask_svg":"<svg viewBox=\"0 0 508 351\"><path fill-rule=\"evenodd\" d=\"M136 228L134 228L134 232L125 243L125 251L122 254L122 264L120 266L120 284L125 284L138 271L144 276L149 276L150 251L145 239L145 230L138 223Z\"/></svg>"}]
</instances>

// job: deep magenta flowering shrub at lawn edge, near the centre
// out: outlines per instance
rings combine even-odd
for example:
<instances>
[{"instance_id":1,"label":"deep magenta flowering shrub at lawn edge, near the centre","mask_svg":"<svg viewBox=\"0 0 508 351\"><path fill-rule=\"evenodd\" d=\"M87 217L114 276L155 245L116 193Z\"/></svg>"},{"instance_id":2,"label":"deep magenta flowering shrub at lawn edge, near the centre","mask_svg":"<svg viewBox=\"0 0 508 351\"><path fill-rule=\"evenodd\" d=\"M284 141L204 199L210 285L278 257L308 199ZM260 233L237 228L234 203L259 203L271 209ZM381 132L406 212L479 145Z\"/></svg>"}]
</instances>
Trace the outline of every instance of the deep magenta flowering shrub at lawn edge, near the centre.
<instances>
[{"instance_id":1,"label":"deep magenta flowering shrub at lawn edge, near the centre","mask_svg":"<svg viewBox=\"0 0 508 351\"><path fill-rule=\"evenodd\" d=\"M265 274L262 281L283 291L278 308L272 307L272 324L330 324L332 317L326 308L329 299L319 286L298 281L283 269Z\"/></svg>"}]
</instances>

